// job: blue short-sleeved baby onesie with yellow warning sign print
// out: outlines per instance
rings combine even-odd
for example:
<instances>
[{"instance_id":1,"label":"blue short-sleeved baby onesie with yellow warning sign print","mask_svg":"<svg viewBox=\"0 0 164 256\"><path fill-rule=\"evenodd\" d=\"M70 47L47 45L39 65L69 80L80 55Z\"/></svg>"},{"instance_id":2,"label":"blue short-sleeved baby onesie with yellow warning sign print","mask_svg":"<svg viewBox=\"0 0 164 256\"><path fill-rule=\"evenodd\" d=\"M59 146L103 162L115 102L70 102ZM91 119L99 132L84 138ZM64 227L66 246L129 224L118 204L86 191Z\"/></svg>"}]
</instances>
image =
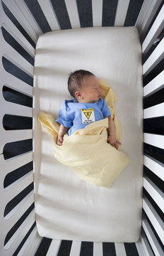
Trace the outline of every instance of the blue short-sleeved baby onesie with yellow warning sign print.
<instances>
[{"instance_id":1,"label":"blue short-sleeved baby onesie with yellow warning sign print","mask_svg":"<svg viewBox=\"0 0 164 256\"><path fill-rule=\"evenodd\" d=\"M105 100L100 98L94 103L78 103L77 100L64 100L59 110L56 122L70 127L69 135L78 129L83 129L87 124L99 121L110 116L110 110Z\"/></svg>"}]
</instances>

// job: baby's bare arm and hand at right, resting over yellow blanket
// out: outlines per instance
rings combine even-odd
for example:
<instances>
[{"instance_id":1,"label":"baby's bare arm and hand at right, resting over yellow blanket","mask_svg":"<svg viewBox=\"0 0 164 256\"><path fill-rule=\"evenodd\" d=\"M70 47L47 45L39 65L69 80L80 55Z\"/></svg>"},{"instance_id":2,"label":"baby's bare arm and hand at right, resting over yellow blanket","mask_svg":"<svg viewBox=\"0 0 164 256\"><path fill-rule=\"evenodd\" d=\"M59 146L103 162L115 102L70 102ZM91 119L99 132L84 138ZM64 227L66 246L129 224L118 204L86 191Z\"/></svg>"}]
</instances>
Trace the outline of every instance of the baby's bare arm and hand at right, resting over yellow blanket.
<instances>
[{"instance_id":1,"label":"baby's bare arm and hand at right, resting over yellow blanket","mask_svg":"<svg viewBox=\"0 0 164 256\"><path fill-rule=\"evenodd\" d=\"M117 144L121 144L121 142L119 142L116 137L115 123L113 122L111 116L108 117L108 129L110 135L107 137L107 142L110 143L112 146L115 146L116 149L118 149Z\"/></svg>"}]
</instances>

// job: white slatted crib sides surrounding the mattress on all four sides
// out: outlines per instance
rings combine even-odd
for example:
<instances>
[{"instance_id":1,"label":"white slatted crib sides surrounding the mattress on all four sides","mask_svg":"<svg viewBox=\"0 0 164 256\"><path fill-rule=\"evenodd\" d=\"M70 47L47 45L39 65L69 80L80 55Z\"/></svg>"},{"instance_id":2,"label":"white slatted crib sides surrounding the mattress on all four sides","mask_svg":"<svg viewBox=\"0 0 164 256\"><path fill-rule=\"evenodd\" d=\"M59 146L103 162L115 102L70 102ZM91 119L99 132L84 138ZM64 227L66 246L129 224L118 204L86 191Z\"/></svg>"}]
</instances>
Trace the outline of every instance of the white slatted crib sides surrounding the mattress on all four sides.
<instances>
[{"instance_id":1,"label":"white slatted crib sides surrounding the mattress on all four sides","mask_svg":"<svg viewBox=\"0 0 164 256\"><path fill-rule=\"evenodd\" d=\"M1 0L1 255L163 255L164 71L162 0ZM33 66L40 34L136 26L143 53L144 188L136 243L41 238L33 186Z\"/></svg>"}]
</instances>

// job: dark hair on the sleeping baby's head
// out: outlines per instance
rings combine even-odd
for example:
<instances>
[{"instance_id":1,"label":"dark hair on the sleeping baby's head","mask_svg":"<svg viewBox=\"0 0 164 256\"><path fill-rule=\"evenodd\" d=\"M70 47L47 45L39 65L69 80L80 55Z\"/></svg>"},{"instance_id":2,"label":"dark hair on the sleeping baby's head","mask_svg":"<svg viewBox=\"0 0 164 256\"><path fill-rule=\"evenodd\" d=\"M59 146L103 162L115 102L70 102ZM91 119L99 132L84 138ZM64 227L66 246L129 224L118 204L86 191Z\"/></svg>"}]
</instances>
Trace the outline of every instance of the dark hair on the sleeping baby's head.
<instances>
[{"instance_id":1,"label":"dark hair on the sleeping baby's head","mask_svg":"<svg viewBox=\"0 0 164 256\"><path fill-rule=\"evenodd\" d=\"M76 70L73 73L69 74L68 90L71 96L75 98L75 92L81 89L81 83L83 82L83 78L90 75L93 75L93 73L87 70Z\"/></svg>"}]
</instances>

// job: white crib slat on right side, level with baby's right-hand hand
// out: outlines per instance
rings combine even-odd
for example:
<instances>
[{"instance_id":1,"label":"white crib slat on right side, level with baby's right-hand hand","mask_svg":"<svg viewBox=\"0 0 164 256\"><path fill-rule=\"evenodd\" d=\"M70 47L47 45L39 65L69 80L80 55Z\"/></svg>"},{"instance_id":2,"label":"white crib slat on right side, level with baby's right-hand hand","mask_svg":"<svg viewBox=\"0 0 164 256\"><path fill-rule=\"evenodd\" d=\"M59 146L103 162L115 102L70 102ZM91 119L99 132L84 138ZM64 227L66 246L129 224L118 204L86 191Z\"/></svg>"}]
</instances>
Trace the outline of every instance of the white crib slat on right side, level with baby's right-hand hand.
<instances>
[{"instance_id":1,"label":"white crib slat on right side, level with baby's right-hand hand","mask_svg":"<svg viewBox=\"0 0 164 256\"><path fill-rule=\"evenodd\" d=\"M164 149L164 135L144 133L144 142Z\"/></svg>"}]
</instances>

